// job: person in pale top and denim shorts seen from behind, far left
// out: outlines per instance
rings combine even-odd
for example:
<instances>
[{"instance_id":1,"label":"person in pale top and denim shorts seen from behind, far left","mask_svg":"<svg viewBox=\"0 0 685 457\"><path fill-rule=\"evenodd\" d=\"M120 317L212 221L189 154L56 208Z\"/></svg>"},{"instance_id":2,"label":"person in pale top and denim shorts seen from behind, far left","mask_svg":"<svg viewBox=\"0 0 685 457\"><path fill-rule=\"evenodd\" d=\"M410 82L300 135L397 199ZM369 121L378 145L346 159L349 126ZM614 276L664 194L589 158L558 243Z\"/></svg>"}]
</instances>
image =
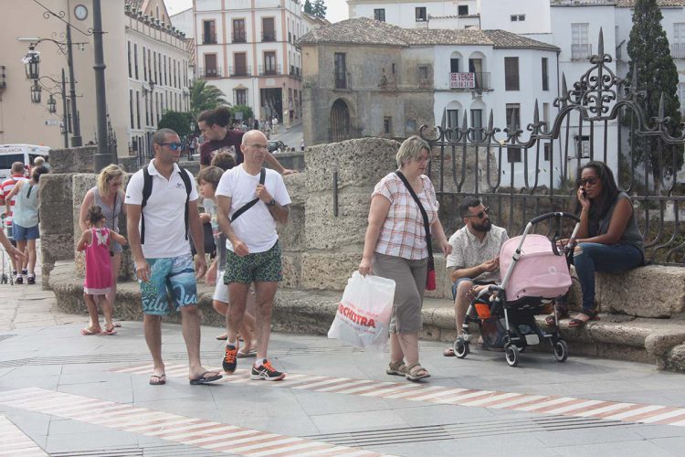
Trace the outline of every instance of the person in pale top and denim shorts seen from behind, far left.
<instances>
[{"instance_id":1,"label":"person in pale top and denim shorts seen from behind, far left","mask_svg":"<svg viewBox=\"0 0 685 457\"><path fill-rule=\"evenodd\" d=\"M26 271L26 283L36 283L36 240L40 238L38 229L38 202L40 190L38 182L40 175L45 175L47 168L37 166L33 169L30 180L18 181L16 186L5 198L5 208L10 211L10 201L16 196L15 208L12 214L12 236L16 241L16 248L24 252L28 250L28 265ZM18 284L24 282L22 275L16 275Z\"/></svg>"}]
</instances>

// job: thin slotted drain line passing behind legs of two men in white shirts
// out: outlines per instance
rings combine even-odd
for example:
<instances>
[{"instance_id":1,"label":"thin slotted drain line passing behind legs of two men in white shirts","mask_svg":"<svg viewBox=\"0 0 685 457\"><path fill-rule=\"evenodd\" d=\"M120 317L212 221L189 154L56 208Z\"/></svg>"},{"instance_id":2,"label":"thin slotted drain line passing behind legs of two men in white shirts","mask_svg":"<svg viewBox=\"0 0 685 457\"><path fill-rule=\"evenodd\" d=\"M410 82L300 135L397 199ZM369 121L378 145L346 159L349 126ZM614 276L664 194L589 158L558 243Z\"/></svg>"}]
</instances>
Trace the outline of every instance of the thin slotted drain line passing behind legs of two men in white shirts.
<instances>
[{"instance_id":1,"label":"thin slotted drain line passing behind legs of two men in white shirts","mask_svg":"<svg viewBox=\"0 0 685 457\"><path fill-rule=\"evenodd\" d=\"M14 336L14 335L10 335ZM319 354L334 354L344 353L350 354L353 352L362 352L361 349L350 348L328 348L328 347L301 347L276 349L269 352L269 356L274 358L286 356L311 356ZM164 360L188 360L187 353L174 352L164 353ZM211 360L220 357L221 354L203 353L202 358ZM15 360L0 361L0 368L11 367L44 367L47 365L80 365L80 364L112 364L112 363L126 363L126 362L150 362L152 357L149 354L102 354L102 355L88 355L88 356L55 356L55 357L31 357L31 358L17 358Z\"/></svg>"}]
</instances>

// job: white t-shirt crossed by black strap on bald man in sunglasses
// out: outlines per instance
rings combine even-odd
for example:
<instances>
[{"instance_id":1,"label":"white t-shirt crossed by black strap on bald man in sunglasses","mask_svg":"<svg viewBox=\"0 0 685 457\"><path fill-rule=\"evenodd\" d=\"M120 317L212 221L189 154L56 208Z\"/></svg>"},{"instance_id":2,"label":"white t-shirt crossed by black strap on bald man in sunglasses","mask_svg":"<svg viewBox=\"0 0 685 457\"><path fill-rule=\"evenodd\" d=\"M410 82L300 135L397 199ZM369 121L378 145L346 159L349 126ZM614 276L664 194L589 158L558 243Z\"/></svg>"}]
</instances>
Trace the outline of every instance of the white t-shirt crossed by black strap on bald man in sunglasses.
<instances>
[{"instance_id":1,"label":"white t-shirt crossed by black strap on bald man in sunglasses","mask_svg":"<svg viewBox=\"0 0 685 457\"><path fill-rule=\"evenodd\" d=\"M281 207L290 205L290 195L288 195L281 175L269 168L266 168L266 171L264 186L267 187L271 197ZM255 191L258 184L259 174L248 175L242 164L231 168L221 176L219 185L216 186L216 196L231 197L228 218L231 218L233 213L257 197ZM234 222L231 222L231 226L236 232L237 238L248 246L251 254L270 250L279 239L279 234L276 232L276 221L271 216L267 204L261 200L241 214ZM226 242L226 247L228 250L233 250L230 241Z\"/></svg>"}]
</instances>

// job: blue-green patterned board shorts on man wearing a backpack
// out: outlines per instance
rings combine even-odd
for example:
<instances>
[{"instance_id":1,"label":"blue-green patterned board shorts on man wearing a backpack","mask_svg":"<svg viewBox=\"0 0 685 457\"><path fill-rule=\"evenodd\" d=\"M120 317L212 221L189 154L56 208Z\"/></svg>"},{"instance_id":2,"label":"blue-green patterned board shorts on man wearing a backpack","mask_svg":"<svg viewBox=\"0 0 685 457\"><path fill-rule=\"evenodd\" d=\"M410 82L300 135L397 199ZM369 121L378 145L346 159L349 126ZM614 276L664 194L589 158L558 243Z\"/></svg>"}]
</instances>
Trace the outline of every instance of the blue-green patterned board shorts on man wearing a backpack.
<instances>
[{"instance_id":1,"label":"blue-green patterned board shorts on man wearing a backpack","mask_svg":"<svg viewBox=\"0 0 685 457\"><path fill-rule=\"evenodd\" d=\"M176 311L197 303L197 282L195 267L190 254L163 259L145 259L150 265L150 281L142 282L142 313L153 315L169 314L169 299L174 300Z\"/></svg>"}]
</instances>

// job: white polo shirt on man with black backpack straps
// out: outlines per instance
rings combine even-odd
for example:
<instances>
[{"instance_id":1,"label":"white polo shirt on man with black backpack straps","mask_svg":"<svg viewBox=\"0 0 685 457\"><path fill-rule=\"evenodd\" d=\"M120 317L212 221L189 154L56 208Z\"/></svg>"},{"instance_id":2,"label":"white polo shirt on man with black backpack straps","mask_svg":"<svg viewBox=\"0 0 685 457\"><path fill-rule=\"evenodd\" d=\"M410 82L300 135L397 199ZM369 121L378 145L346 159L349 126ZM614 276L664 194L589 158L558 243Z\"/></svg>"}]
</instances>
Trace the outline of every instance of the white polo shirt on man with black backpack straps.
<instances>
[{"instance_id":1,"label":"white polo shirt on man with black backpack straps","mask_svg":"<svg viewBox=\"0 0 685 457\"><path fill-rule=\"evenodd\" d=\"M160 175L150 162L147 170L153 178L153 190L142 208L145 217L145 243L142 245L142 255L145 259L163 259L190 254L190 243L185 239L185 185L179 175L180 168L174 164L174 172L167 181ZM190 177L191 191L189 201L198 198L195 188L195 178L187 170ZM142 204L142 170L135 172L126 186L127 205ZM140 230L140 224L138 226ZM190 238L190 229L188 229Z\"/></svg>"}]
</instances>

